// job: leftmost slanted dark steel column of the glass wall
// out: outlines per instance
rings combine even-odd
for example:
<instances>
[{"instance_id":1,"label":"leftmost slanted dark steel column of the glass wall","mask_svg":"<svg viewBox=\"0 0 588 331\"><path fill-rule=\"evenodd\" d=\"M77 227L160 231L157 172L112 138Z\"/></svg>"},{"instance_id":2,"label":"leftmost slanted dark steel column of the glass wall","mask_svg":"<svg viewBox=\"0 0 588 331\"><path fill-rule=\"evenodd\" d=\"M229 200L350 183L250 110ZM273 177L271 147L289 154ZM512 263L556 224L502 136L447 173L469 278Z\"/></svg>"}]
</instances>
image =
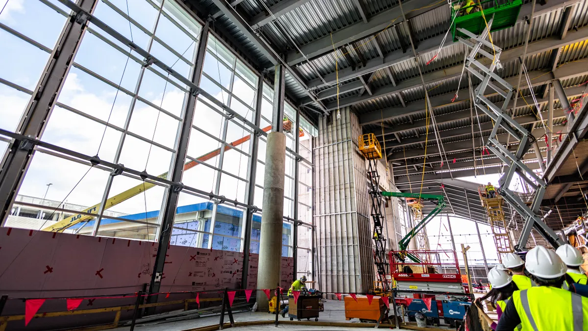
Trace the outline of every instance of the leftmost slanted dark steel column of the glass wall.
<instances>
[{"instance_id":1,"label":"leftmost slanted dark steel column of the glass wall","mask_svg":"<svg viewBox=\"0 0 588 331\"><path fill-rule=\"evenodd\" d=\"M84 11L91 14L97 3L97 0L78 0L76 2ZM66 22L31 100L26 106L18 128L15 130L16 133L32 138L39 138L43 134L49 115L86 31L87 19L88 17L84 14L74 14ZM3 170L0 171L1 224L4 224L4 220L10 213L10 206L14 202L18 188L31 163L34 153L33 147L32 144L14 141L2 158L0 163L0 170Z\"/></svg>"}]
</instances>

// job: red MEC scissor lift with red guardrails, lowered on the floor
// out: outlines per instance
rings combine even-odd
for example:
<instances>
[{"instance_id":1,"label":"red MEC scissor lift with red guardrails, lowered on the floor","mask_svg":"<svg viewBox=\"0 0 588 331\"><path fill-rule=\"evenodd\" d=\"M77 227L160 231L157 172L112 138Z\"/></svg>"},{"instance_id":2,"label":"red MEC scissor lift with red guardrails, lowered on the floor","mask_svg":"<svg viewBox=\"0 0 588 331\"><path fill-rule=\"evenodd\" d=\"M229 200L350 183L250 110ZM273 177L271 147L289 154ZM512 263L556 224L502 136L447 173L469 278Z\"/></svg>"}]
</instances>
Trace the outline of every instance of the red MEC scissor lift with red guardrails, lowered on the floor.
<instances>
[{"instance_id":1,"label":"red MEC scissor lift with red guardrails, lowered on the floor","mask_svg":"<svg viewBox=\"0 0 588 331\"><path fill-rule=\"evenodd\" d=\"M398 259L398 257L406 256L406 254L416 257L420 262L414 262L412 259L405 259L404 261ZM463 302L465 297L470 296L467 286L462 284L462 275L459 271L455 251L390 251L389 260L395 303L397 306L404 306L404 311L408 312L409 319L412 319L412 316L417 311L424 313L425 316L435 320L437 323L439 323L441 317L445 320L457 317L445 316L444 310L447 309L443 307L444 304L447 306ZM396 297L396 294L403 297ZM406 300L406 298L432 298L432 300L435 300L437 311L433 308L430 312L424 312L419 307L415 309L415 303L419 304L422 301L416 300L413 302L412 300Z\"/></svg>"}]
</instances>

